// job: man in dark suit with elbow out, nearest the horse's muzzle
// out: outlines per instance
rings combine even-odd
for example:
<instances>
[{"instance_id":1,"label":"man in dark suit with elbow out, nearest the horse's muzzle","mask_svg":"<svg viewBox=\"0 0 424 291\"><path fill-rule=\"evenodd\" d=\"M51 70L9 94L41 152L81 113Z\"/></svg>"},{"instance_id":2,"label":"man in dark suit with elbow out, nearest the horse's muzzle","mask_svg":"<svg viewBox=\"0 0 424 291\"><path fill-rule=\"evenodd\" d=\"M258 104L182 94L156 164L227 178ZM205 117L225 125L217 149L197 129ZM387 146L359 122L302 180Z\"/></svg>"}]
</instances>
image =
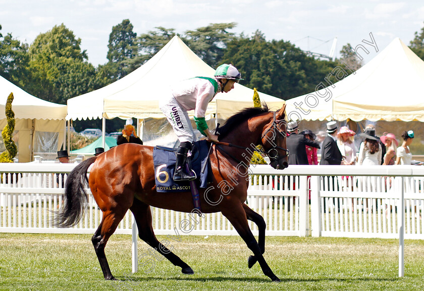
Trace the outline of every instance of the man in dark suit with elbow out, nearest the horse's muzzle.
<instances>
[{"instance_id":1,"label":"man in dark suit with elbow out, nearest the horse's muzzle","mask_svg":"<svg viewBox=\"0 0 424 291\"><path fill-rule=\"evenodd\" d=\"M307 165L308 157L306 155L305 146L310 146L314 148L320 148L320 145L313 140L305 138L304 135L298 134L299 128L298 124L295 121L289 122L287 124L287 131L290 133L290 136L287 137L286 145L289 150L289 164L290 165Z\"/></svg>"}]
</instances>

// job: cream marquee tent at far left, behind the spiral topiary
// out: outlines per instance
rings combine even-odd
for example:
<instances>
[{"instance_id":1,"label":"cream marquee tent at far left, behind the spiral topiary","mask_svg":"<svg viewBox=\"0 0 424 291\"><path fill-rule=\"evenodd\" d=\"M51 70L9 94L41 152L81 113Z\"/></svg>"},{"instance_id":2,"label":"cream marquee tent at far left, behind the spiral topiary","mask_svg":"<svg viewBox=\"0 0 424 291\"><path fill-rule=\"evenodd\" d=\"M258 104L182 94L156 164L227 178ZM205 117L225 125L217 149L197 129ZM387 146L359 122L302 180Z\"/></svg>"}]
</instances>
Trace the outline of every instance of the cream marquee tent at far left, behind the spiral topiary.
<instances>
[{"instance_id":1,"label":"cream marquee tent at far left, behind the spiral topiary","mask_svg":"<svg viewBox=\"0 0 424 291\"><path fill-rule=\"evenodd\" d=\"M64 141L66 105L44 101L25 92L0 76L0 129L7 121L6 101L13 93L12 110L15 113L15 130L18 131L19 162L32 160L33 152L56 152ZM46 134L47 133L47 134ZM56 143L57 142L57 143ZM55 148L53 149L52 146ZM44 149L44 150L43 150Z\"/></svg>"}]
</instances>

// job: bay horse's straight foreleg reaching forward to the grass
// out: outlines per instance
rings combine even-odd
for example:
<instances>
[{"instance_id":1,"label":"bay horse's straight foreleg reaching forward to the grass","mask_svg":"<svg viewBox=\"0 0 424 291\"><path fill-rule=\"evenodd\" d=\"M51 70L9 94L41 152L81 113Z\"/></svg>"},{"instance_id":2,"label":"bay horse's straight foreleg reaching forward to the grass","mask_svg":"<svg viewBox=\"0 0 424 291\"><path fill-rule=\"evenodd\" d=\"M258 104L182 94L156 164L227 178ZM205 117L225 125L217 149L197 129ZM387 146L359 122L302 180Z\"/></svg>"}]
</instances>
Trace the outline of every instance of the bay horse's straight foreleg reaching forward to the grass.
<instances>
[{"instance_id":1,"label":"bay horse's straight foreleg reaching forward to the grass","mask_svg":"<svg viewBox=\"0 0 424 291\"><path fill-rule=\"evenodd\" d=\"M257 244L252 231L247 223L247 217L242 204L228 205L225 209L222 209L222 214L230 220L231 224L237 230L240 237L246 243L247 247L253 252L253 255L257 259L263 274L270 277L275 282L280 282L280 279L274 274L270 266L263 258L262 252Z\"/></svg>"}]
</instances>

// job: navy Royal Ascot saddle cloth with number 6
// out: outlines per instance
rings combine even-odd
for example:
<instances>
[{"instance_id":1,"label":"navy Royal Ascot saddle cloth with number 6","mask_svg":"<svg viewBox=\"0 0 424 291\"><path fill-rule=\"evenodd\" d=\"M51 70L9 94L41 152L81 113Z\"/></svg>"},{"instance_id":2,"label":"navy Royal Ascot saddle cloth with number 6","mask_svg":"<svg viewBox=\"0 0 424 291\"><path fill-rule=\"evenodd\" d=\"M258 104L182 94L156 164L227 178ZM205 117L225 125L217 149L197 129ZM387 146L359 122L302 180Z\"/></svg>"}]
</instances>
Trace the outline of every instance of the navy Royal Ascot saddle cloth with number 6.
<instances>
[{"instance_id":1,"label":"navy Royal Ascot saddle cloth with number 6","mask_svg":"<svg viewBox=\"0 0 424 291\"><path fill-rule=\"evenodd\" d=\"M193 144L191 151L191 168L196 173L196 185L200 188L207 188L208 177L211 173L209 159L208 142L206 140L197 141ZM174 182L175 161L177 159L177 149L163 146L153 148L154 180L157 192L187 192L191 191L190 182ZM203 164L207 162L204 173L201 173Z\"/></svg>"}]
</instances>

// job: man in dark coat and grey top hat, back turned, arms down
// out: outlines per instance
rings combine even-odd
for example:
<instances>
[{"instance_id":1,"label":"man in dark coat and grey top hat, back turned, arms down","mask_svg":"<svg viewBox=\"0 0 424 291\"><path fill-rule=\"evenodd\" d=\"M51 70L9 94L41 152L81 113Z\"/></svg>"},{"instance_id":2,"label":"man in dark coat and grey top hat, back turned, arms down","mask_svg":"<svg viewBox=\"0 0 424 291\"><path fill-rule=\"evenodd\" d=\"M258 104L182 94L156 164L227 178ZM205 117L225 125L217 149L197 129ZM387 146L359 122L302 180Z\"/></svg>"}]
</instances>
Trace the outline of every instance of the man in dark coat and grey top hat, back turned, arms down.
<instances>
[{"instance_id":1,"label":"man in dark coat and grey top hat, back turned, arms down","mask_svg":"<svg viewBox=\"0 0 424 291\"><path fill-rule=\"evenodd\" d=\"M323 153L320 164L322 165L340 165L342 154L336 143L337 123L331 121L327 123L327 137L323 142Z\"/></svg>"}]
</instances>

